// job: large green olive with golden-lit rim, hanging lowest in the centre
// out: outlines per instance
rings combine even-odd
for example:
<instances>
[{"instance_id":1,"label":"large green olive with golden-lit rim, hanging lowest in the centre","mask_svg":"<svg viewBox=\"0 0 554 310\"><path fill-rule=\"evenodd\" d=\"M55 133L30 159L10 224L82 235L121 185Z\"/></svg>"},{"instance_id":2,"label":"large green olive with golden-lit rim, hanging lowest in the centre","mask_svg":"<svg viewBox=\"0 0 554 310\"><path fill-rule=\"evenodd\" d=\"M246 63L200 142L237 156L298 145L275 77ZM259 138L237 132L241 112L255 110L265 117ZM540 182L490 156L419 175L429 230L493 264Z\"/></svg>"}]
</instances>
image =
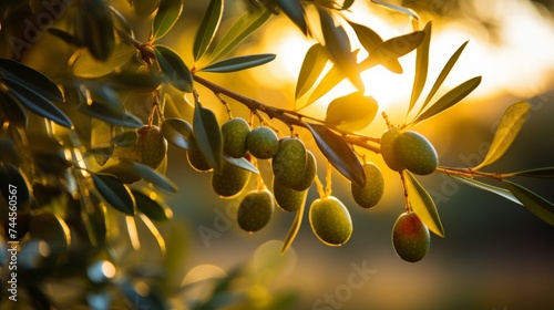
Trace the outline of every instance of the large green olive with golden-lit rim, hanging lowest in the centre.
<instances>
[{"instance_id":1,"label":"large green olive with golden-lit rim, hanging lowest in the centre","mask_svg":"<svg viewBox=\"0 0 554 310\"><path fill-rule=\"evenodd\" d=\"M352 235L352 219L345 205L334 196L311 203L309 223L317 238L328 246L341 246Z\"/></svg>"}]
</instances>

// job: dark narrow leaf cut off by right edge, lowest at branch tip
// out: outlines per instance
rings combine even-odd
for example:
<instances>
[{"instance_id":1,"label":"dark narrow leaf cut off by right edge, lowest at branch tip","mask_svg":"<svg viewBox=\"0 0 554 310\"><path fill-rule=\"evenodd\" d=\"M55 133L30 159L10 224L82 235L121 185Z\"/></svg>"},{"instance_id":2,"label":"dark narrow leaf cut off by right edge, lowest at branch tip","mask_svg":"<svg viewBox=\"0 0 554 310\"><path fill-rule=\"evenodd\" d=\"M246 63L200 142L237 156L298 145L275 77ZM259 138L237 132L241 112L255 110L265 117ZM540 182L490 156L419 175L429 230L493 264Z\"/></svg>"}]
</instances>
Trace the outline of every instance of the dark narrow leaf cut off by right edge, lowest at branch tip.
<instances>
[{"instance_id":1,"label":"dark narrow leaf cut off by right edge, lowest at branch tip","mask_svg":"<svg viewBox=\"0 0 554 310\"><path fill-rule=\"evenodd\" d=\"M512 192L514 196L523 203L527 210L551 226L554 226L554 205L551 202L519 184L506 179L503 182L507 186L507 189L510 189L510 192Z\"/></svg>"}]
</instances>

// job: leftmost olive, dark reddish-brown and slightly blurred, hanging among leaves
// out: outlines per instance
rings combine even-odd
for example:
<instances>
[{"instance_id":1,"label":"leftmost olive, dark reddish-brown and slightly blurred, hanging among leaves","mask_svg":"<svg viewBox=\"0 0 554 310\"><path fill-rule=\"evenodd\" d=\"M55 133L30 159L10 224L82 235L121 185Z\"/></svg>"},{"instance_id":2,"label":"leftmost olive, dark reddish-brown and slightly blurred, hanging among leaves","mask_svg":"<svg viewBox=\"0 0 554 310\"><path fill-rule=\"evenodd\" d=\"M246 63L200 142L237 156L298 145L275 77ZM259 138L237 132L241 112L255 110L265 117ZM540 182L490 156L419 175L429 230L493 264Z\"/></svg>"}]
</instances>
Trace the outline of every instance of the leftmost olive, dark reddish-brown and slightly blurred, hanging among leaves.
<instances>
[{"instance_id":1,"label":"leftmost olive, dark reddish-brown and slightly blurred, hanging among leaves","mask_svg":"<svg viewBox=\"0 0 554 310\"><path fill-rule=\"evenodd\" d=\"M167 142L155 125L144 125L138 130L136 147L141 153L141 163L153 169L157 169L167 154Z\"/></svg>"}]
</instances>

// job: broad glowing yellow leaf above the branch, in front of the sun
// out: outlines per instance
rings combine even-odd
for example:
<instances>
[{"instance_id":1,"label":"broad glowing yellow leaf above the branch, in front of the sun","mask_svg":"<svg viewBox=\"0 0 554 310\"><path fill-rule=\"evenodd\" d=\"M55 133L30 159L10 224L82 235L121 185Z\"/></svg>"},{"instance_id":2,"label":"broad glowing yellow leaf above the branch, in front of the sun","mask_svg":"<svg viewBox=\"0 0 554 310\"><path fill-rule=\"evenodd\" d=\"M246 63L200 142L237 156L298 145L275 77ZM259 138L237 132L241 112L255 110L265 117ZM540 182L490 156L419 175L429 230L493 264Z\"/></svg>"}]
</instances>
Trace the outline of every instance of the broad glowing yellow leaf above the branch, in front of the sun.
<instances>
[{"instance_id":1,"label":"broad glowing yellow leaf above the branch, in front of the sun","mask_svg":"<svg viewBox=\"0 0 554 310\"><path fill-rule=\"evenodd\" d=\"M360 92L340 96L327 106L325 122L331 127L345 131L360 131L376 117L379 105L372 96Z\"/></svg>"}]
</instances>

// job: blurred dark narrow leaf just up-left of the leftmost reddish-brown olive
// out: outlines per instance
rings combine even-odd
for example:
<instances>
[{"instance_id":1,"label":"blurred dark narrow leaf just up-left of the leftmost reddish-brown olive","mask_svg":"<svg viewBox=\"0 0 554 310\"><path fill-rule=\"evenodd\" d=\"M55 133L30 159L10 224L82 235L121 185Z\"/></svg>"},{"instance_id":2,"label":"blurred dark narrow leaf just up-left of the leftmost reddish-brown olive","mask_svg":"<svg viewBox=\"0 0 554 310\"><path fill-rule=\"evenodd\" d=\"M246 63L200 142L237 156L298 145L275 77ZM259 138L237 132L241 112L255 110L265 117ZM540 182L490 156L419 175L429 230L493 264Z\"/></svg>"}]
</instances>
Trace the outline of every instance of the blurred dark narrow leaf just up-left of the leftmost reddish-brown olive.
<instances>
[{"instance_id":1,"label":"blurred dark narrow leaf just up-left of the leftmost reddish-brown olive","mask_svg":"<svg viewBox=\"0 0 554 310\"><path fill-rule=\"evenodd\" d=\"M142 121L125 112L123 108L114 108L113 106L100 102L93 101L91 104L83 104L79 107L82 113L102 120L104 122L120 125L124 127L140 128L142 127Z\"/></svg>"}]
</instances>

